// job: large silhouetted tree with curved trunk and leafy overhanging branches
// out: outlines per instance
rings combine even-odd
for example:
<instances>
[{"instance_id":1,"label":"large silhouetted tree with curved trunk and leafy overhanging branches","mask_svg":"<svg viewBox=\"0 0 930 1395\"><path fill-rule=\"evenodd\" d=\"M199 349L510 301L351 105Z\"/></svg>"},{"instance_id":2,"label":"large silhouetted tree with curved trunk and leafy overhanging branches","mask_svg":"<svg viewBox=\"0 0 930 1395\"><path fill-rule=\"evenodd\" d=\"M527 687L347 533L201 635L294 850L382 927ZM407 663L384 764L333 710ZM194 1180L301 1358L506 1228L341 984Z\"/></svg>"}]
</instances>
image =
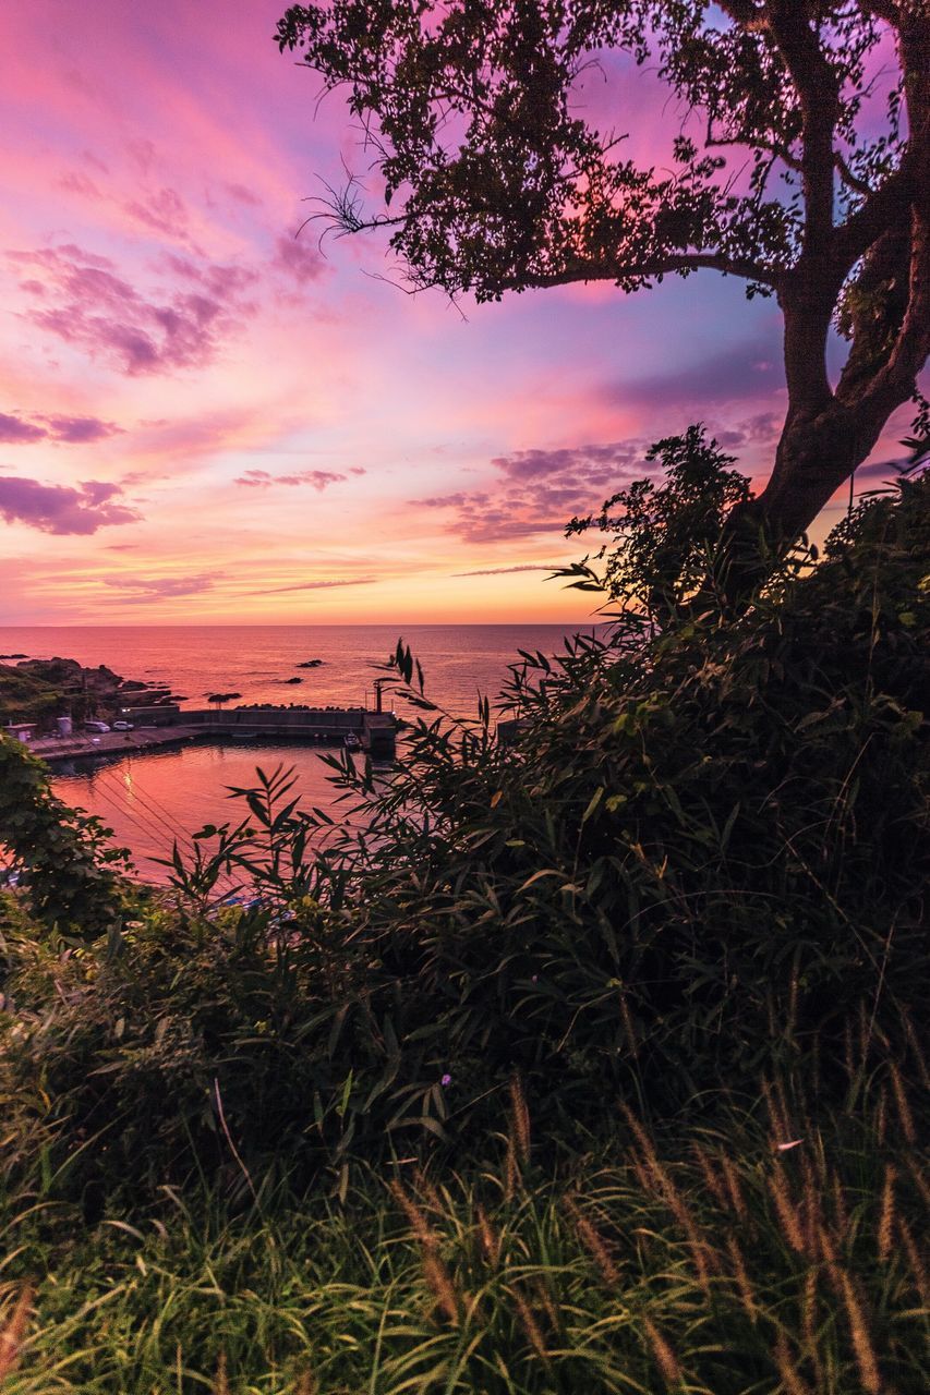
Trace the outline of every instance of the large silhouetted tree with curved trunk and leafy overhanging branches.
<instances>
[{"instance_id":1,"label":"large silhouetted tree with curved trunk and leafy overhanging branches","mask_svg":"<svg viewBox=\"0 0 930 1395\"><path fill-rule=\"evenodd\" d=\"M383 179L380 211L349 177L324 216L387 230L412 287L630 293L712 269L778 297L788 412L737 511L769 543L809 527L909 399L926 435L927 0L318 0L276 40L349 88ZM592 67L621 85L647 60L702 133L673 141L670 172L626 159L575 100ZM831 325L849 343L835 384Z\"/></svg>"}]
</instances>

